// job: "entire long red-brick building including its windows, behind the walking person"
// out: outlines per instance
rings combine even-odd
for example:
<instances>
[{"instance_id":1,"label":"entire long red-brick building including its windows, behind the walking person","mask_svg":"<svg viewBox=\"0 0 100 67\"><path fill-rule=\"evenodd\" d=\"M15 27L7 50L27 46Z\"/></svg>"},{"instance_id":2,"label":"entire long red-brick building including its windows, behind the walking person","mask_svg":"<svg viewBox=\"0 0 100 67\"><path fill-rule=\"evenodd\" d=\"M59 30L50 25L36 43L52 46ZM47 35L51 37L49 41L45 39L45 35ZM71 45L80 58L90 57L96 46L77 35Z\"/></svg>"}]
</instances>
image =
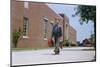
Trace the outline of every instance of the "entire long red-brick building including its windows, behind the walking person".
<instances>
[{"instance_id":1,"label":"entire long red-brick building including its windows, behind the walking person","mask_svg":"<svg viewBox=\"0 0 100 67\"><path fill-rule=\"evenodd\" d=\"M68 20L64 19L61 14L55 13L46 3L11 0L11 33L19 29L23 32L17 47L49 47L48 39L51 37L52 22L55 21L56 17L60 19L64 40L67 37L66 34L69 31L75 31L75 29L68 24L71 30L67 33L65 32ZM73 43L76 43L76 31L70 36Z\"/></svg>"}]
</instances>

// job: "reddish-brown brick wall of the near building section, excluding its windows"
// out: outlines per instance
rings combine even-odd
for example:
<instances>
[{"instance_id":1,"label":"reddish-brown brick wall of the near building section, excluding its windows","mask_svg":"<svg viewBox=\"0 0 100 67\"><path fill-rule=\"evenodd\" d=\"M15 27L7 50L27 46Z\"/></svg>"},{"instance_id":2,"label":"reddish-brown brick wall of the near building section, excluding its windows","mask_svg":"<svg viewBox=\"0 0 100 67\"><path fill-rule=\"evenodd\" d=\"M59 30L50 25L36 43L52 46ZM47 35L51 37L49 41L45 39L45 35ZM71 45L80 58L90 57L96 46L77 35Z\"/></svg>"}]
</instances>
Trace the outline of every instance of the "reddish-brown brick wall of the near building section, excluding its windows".
<instances>
[{"instance_id":1,"label":"reddish-brown brick wall of the near building section, excluding its windows","mask_svg":"<svg viewBox=\"0 0 100 67\"><path fill-rule=\"evenodd\" d=\"M23 18L29 19L28 38L21 36L18 41L18 48L42 48L48 47L47 41L44 40L44 21L43 18L48 18L47 39L51 37L51 21L59 17L62 22L62 17L56 14L45 3L29 2L28 8L24 7L24 2L12 0L11 5L11 32L21 28L23 31ZM60 23L62 25L62 23Z\"/></svg>"}]
</instances>

